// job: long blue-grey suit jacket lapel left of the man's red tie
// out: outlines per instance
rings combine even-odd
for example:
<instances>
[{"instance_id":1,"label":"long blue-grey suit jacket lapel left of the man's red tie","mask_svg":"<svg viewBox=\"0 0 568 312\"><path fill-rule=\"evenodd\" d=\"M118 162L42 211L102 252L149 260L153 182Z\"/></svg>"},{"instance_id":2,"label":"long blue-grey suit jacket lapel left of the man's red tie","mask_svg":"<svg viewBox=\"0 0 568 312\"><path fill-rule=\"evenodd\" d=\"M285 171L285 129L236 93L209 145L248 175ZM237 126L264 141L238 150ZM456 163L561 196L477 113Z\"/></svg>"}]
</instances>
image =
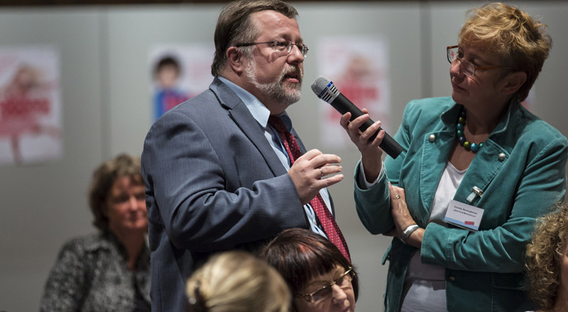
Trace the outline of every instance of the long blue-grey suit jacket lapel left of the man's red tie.
<instances>
[{"instance_id":1,"label":"long blue-grey suit jacket lapel left of the man's red tie","mask_svg":"<svg viewBox=\"0 0 568 312\"><path fill-rule=\"evenodd\" d=\"M246 105L241 101L239 96L236 96L236 94L217 77L215 77L209 89L217 96L219 104L227 109L229 116L236 123L236 126L239 126L246 137L251 140L251 143L256 146L258 152L263 155L264 160L266 160L274 176L278 177L285 174L286 169L272 150L268 140L266 140L263 127L258 124L249 111L249 108L246 108Z\"/></svg>"}]
</instances>

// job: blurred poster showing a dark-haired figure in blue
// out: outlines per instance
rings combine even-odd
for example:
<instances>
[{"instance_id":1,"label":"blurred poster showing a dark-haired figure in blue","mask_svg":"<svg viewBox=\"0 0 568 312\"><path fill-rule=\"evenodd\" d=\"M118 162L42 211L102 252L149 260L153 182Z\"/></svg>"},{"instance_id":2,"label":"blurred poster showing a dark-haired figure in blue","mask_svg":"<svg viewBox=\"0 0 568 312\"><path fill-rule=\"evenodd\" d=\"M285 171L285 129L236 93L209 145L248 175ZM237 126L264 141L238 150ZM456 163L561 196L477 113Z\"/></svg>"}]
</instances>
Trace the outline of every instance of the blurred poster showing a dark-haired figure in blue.
<instances>
[{"instance_id":1,"label":"blurred poster showing a dark-haired figure in blue","mask_svg":"<svg viewBox=\"0 0 568 312\"><path fill-rule=\"evenodd\" d=\"M210 44L156 45L150 50L153 121L209 88L213 54Z\"/></svg>"}]
</instances>

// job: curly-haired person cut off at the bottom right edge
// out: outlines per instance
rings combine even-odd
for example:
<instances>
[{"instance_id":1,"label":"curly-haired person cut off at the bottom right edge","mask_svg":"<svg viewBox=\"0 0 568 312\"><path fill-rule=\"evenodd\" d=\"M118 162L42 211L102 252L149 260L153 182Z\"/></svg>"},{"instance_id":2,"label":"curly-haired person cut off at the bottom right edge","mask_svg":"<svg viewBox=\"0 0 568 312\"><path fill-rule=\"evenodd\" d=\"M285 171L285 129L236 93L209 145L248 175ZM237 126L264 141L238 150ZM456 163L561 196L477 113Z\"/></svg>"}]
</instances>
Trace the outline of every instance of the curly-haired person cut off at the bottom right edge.
<instances>
[{"instance_id":1,"label":"curly-haired person cut off at the bottom right edge","mask_svg":"<svg viewBox=\"0 0 568 312\"><path fill-rule=\"evenodd\" d=\"M529 294L539 311L568 311L568 206L537 221L527 245Z\"/></svg>"}]
</instances>

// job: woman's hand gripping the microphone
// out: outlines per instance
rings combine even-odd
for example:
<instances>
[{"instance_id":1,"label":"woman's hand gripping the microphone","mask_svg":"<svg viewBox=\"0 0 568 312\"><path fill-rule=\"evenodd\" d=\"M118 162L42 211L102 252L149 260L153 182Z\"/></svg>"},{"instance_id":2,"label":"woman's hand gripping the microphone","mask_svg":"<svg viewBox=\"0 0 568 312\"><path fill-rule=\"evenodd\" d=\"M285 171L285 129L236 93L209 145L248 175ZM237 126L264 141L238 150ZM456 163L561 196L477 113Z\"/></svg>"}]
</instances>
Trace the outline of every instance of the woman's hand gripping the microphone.
<instances>
[{"instance_id":1,"label":"woman's hand gripping the microphone","mask_svg":"<svg viewBox=\"0 0 568 312\"><path fill-rule=\"evenodd\" d=\"M361 152L361 162L363 162L365 169L365 178L367 182L373 183L383 168L383 160L381 159L383 150L381 150L381 147L378 147L378 145L383 142L385 131L381 130L376 138L370 141L369 138L377 132L378 128L381 128L381 121L376 121L373 125L368 127L367 130L361 132L359 127L369 119L368 110L363 108L361 111L364 112L364 115L355 118L353 121L349 121L349 119L351 119L351 113L345 113L339 124L347 131L351 142L355 143L359 152Z\"/></svg>"}]
</instances>

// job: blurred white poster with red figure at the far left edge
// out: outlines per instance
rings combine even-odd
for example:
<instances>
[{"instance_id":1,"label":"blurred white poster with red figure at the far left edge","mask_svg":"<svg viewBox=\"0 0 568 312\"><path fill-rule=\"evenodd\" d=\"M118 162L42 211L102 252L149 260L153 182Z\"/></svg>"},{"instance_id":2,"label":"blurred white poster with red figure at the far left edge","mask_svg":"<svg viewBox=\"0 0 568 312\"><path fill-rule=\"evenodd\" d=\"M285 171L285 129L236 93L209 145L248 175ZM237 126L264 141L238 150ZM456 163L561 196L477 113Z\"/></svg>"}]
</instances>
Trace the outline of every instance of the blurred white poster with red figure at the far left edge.
<instances>
[{"instance_id":1,"label":"blurred white poster with red figure at the far left edge","mask_svg":"<svg viewBox=\"0 0 568 312\"><path fill-rule=\"evenodd\" d=\"M0 47L0 164L62 157L59 52Z\"/></svg>"}]
</instances>

